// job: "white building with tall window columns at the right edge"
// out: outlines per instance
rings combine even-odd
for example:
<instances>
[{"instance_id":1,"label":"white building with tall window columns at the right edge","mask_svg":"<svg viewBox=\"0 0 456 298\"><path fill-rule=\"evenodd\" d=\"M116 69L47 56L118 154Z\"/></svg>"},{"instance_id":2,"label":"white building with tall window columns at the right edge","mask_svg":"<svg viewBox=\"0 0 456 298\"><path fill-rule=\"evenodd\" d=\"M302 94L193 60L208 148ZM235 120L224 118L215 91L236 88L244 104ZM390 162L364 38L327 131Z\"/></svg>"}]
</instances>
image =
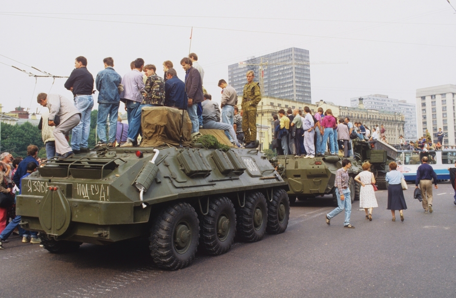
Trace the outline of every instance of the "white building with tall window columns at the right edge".
<instances>
[{"instance_id":1,"label":"white building with tall window columns at the right edge","mask_svg":"<svg viewBox=\"0 0 456 298\"><path fill-rule=\"evenodd\" d=\"M445 133L444 146L456 145L456 85L447 84L416 89L418 133L420 136L431 133L432 141L437 142L438 128Z\"/></svg>"}]
</instances>

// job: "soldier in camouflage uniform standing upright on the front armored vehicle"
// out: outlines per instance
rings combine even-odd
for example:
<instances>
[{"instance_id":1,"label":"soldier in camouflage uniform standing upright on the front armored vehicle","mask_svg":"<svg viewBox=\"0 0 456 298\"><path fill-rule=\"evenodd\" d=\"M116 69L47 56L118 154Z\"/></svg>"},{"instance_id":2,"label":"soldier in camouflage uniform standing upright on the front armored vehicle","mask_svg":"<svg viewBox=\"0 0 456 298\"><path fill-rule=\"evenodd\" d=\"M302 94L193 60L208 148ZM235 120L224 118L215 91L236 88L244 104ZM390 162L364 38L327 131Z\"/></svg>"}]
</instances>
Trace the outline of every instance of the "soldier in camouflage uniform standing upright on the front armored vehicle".
<instances>
[{"instance_id":1,"label":"soldier in camouflage uniform standing upright on the front armored vehicle","mask_svg":"<svg viewBox=\"0 0 456 298\"><path fill-rule=\"evenodd\" d=\"M261 101L260 86L253 81L253 71L247 72L247 84L244 86L242 96L242 130L244 131L245 148L256 148L256 106Z\"/></svg>"}]
</instances>

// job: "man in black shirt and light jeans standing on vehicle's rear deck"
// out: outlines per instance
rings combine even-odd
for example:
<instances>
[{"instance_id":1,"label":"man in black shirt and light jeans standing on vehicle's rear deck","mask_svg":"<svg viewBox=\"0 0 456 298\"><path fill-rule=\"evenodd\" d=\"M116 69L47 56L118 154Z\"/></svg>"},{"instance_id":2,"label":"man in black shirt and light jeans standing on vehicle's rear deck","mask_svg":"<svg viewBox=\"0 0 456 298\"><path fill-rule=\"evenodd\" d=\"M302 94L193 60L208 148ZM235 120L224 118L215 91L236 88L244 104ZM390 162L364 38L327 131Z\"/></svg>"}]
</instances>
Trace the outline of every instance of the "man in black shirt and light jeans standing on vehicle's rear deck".
<instances>
[{"instance_id":1,"label":"man in black shirt and light jeans standing on vehicle's rear deck","mask_svg":"<svg viewBox=\"0 0 456 298\"><path fill-rule=\"evenodd\" d=\"M88 152L90 116L94 106L92 96L94 77L87 70L87 59L85 57L76 57L75 69L65 82L65 88L73 92L75 106L81 113L81 121L73 128L71 148L75 153Z\"/></svg>"}]
</instances>

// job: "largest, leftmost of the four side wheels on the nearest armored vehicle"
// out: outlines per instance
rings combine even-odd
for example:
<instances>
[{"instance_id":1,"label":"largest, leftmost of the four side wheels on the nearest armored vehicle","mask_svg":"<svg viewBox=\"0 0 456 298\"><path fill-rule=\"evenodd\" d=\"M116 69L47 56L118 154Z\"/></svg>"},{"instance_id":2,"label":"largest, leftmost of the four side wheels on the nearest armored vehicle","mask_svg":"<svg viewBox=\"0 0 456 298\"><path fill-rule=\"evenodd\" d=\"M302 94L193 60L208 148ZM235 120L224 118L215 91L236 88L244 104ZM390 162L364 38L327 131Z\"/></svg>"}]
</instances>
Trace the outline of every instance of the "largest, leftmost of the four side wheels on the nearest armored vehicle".
<instances>
[{"instance_id":1,"label":"largest, leftmost of the four side wheels on the nearest armored vehicle","mask_svg":"<svg viewBox=\"0 0 456 298\"><path fill-rule=\"evenodd\" d=\"M151 228L153 262L166 270L190 265L198 249L200 226L195 209L188 203L163 208Z\"/></svg>"}]
</instances>

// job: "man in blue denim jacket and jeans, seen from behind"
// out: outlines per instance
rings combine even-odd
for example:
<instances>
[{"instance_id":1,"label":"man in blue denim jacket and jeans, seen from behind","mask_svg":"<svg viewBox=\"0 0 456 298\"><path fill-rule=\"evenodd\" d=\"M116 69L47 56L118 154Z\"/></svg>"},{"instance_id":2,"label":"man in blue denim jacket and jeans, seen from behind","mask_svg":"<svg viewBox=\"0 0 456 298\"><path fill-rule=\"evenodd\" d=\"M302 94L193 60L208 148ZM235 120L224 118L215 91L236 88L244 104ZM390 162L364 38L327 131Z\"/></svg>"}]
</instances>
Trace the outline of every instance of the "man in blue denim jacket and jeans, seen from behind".
<instances>
[{"instance_id":1,"label":"man in blue denim jacket and jeans, seen from behind","mask_svg":"<svg viewBox=\"0 0 456 298\"><path fill-rule=\"evenodd\" d=\"M103 59L104 70L98 73L95 79L98 95L97 134L100 138L96 147L113 146L116 140L117 113L119 111L119 84L120 76L114 70L114 60L111 57ZM106 144L106 121L109 115L109 140Z\"/></svg>"}]
</instances>

